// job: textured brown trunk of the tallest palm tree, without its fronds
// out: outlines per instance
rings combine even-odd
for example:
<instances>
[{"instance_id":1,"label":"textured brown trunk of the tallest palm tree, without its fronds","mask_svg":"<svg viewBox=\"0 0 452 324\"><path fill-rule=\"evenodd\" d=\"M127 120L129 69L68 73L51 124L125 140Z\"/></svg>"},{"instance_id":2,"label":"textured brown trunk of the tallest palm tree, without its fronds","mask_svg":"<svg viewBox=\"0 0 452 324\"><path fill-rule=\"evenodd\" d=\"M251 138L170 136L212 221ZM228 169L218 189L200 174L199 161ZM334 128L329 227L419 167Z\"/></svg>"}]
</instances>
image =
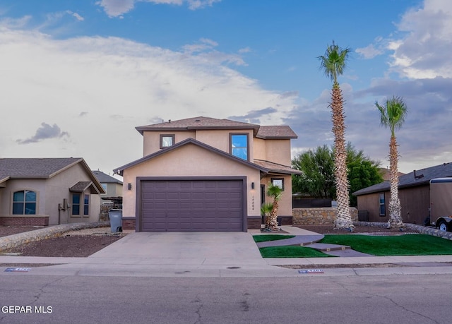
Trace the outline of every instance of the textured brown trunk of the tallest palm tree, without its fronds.
<instances>
[{"instance_id":1,"label":"textured brown trunk of the tallest palm tree, without its fronds","mask_svg":"<svg viewBox=\"0 0 452 324\"><path fill-rule=\"evenodd\" d=\"M350 197L347 179L347 150L345 149L345 123L343 112L343 96L338 83L333 84L331 103L331 119L334 134L334 175L338 211L335 220L336 229L352 229L353 222L350 216Z\"/></svg>"}]
</instances>

